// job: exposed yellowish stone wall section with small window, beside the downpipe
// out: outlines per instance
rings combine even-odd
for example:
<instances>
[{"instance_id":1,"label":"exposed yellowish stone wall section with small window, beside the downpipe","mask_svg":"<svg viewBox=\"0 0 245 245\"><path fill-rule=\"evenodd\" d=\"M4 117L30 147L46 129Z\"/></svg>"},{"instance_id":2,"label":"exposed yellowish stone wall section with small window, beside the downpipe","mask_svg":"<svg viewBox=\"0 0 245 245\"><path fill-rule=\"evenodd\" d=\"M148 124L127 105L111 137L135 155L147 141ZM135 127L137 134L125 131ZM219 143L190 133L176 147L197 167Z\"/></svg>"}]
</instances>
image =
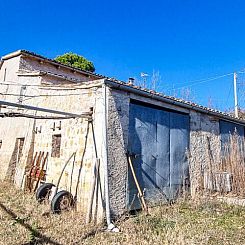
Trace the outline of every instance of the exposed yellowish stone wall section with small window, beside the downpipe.
<instances>
[{"instance_id":1,"label":"exposed yellowish stone wall section with small window, beside the downpipe","mask_svg":"<svg viewBox=\"0 0 245 245\"><path fill-rule=\"evenodd\" d=\"M77 89L75 91L66 90L65 88L49 88L45 91L47 96L42 99L42 107L48 108L52 105L52 109L81 113L89 111L91 107L94 110L94 128L96 131L96 146L101 158L101 136L98 130L101 129L100 112L101 112L101 88L94 87L90 89ZM71 95L73 94L73 95ZM54 96L55 95L55 96ZM37 113L38 115L39 113ZM34 143L34 153L44 151L49 153L46 165L46 182L56 184L64 164L75 152L76 157L73 165L73 159L67 165L59 188L71 190L75 193L79 168L81 167L81 159L85 150L85 139L87 132L87 119L63 119L63 120L36 120L36 133ZM99 128L98 128L99 127ZM52 137L53 135L61 135L60 157L52 157ZM86 146L85 156L82 163L82 171L78 185L78 202L80 209L86 212L91 193L91 182L93 180L94 164L96 162L95 148L92 137L92 128L90 125L88 142ZM101 165L102 168L102 165ZM103 174L103 171L101 171ZM72 178L72 179L71 179ZM101 176L103 179L103 176ZM103 190L103 186L102 186ZM100 194L100 193L99 193ZM102 193L103 195L103 193ZM100 217L103 210L100 200Z\"/></svg>"}]
</instances>

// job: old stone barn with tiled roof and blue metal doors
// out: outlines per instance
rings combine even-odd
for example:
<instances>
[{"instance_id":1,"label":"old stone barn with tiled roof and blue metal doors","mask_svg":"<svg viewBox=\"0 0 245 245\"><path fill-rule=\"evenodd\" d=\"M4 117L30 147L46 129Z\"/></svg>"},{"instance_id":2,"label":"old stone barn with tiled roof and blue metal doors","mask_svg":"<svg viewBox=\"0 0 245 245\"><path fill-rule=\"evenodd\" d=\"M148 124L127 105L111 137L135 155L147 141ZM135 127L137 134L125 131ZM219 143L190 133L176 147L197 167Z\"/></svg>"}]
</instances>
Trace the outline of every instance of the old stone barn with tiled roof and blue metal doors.
<instances>
[{"instance_id":1,"label":"old stone barn with tiled roof and blue metal doors","mask_svg":"<svg viewBox=\"0 0 245 245\"><path fill-rule=\"evenodd\" d=\"M225 113L23 50L2 57L0 101L0 178L24 188L39 158L42 181L62 173L59 188L85 212L92 198L97 218L141 207L128 156L150 205L208 188L228 135L244 136Z\"/></svg>"}]
</instances>

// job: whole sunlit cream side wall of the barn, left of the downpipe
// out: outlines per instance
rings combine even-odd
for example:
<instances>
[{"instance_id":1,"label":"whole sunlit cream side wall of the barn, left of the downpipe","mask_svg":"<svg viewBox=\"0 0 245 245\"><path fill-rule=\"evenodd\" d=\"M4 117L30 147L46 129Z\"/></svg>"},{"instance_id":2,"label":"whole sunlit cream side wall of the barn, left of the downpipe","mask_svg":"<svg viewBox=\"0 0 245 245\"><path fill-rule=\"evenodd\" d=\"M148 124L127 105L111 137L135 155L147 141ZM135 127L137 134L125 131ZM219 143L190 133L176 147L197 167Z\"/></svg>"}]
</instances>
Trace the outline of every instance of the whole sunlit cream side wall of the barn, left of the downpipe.
<instances>
[{"instance_id":1,"label":"whole sunlit cream side wall of the barn, left of the downpipe","mask_svg":"<svg viewBox=\"0 0 245 245\"><path fill-rule=\"evenodd\" d=\"M16 61L16 62L13 62ZM10 62L12 61L12 62ZM33 70L39 69L37 65L45 67L44 64L39 64L38 61L32 59L24 60L21 58L21 65L19 66L19 57L15 57L4 61L2 68L9 68L14 63L15 69L12 68L12 76L18 86L9 86L9 95L2 99L11 102L18 102L20 96L21 84L27 85L23 96L23 104L49 108L53 110L71 112L80 114L88 112L93 108L93 126L96 135L96 147L98 158L101 159L100 165L100 188L97 196L97 217L101 220L103 217L103 198L104 196L104 172L103 162L104 156L102 154L104 144L102 142L101 131L101 118L103 117L104 102L102 99L101 87L103 80L85 83L71 84L62 83L59 78L49 77L50 85L45 86L45 79L47 76L29 75ZM33 62L33 63L32 63ZM27 74L19 73L20 69L25 69ZM29 69L29 70L28 70ZM50 67L47 67L50 69ZM57 72L59 72L58 68ZM62 74L63 75L63 74ZM72 73L70 74L72 75ZM75 74L77 76L79 74ZM0 70L2 77L2 69ZM81 79L84 77L79 75ZM29 86L31 85L31 86ZM0 86L0 91L5 92L6 85ZM2 111L9 111L9 108L2 109ZM55 114L48 114L39 111L20 110L13 108L13 112L27 113L36 116L57 116ZM96 163L95 146L92 137L92 128L90 124L86 153L82 164L82 171L80 180L78 180L78 172L81 166L81 159L85 148L85 138L87 132L88 121L87 119L29 119L29 118L0 118L0 140L2 146L0 149L0 179L8 177L11 178L17 186L23 187L25 182L26 173L30 169L30 164L33 156L39 152L48 153L47 163L45 164L46 182L56 184L61 174L62 168L69 157L75 152L76 157L73 164L73 159L67 165L63 177L60 182L60 188L71 190L72 194L75 193L76 185L78 183L78 208L87 212L88 203L91 198L91 187L94 179L94 166ZM60 156L51 156L52 153L52 137L53 135L61 135ZM18 161L18 150L16 142L18 138L24 138L24 145L22 155ZM12 168L14 171L12 171ZM102 192L102 193L100 193ZM95 210L94 210L95 212Z\"/></svg>"}]
</instances>

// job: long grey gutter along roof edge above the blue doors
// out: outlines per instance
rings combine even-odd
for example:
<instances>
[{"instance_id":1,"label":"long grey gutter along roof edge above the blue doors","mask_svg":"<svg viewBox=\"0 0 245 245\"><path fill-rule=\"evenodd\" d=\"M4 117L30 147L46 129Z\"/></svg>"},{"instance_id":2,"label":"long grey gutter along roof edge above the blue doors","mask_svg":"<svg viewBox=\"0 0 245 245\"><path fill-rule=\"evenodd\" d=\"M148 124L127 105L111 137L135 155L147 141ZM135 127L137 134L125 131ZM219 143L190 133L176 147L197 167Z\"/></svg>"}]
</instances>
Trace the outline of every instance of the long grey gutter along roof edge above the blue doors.
<instances>
[{"instance_id":1,"label":"long grey gutter along roof edge above the blue doors","mask_svg":"<svg viewBox=\"0 0 245 245\"><path fill-rule=\"evenodd\" d=\"M143 96L143 97L147 97L147 98L151 98L151 99L158 100L158 101L161 101L161 102L165 102L165 103L168 103L168 104L176 105L176 106L179 106L179 107L182 107L182 108L191 109L191 110L194 110L194 111L197 111L197 112L201 112L201 113L204 113L204 114L216 116L216 117L219 117L221 119L225 119L225 121L229 121L229 122L233 122L233 123L236 122L237 124L245 126L245 121L233 118L233 117L228 116L228 115L224 115L221 112L215 112L215 111L211 111L211 110L200 108L200 107L195 106L195 105L190 105L190 104L183 103L183 102L180 102L180 101L176 101L176 100L173 100L173 99L165 98L165 97L163 97L161 95L158 95L158 94L155 94L155 93L150 93L148 91L144 91L144 90L141 90L139 88L132 87L130 85L127 85L127 84L124 84L124 83L121 83L121 82L105 80L105 84L110 86L110 87L112 87L112 88L114 88L114 89L123 90L125 92L134 93L134 94L137 94L137 95L140 95L140 96Z\"/></svg>"}]
</instances>

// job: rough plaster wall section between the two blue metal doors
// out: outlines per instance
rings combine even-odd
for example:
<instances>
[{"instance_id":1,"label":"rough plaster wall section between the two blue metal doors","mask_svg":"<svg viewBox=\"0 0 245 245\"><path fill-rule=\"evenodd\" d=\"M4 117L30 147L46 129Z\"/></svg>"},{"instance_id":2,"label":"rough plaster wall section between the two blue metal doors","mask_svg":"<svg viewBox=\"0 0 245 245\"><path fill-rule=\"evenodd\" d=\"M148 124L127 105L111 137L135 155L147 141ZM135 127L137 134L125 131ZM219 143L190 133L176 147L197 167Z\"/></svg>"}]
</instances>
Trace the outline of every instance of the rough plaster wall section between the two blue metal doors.
<instances>
[{"instance_id":1,"label":"rough plaster wall section between the two blue metal doors","mask_svg":"<svg viewBox=\"0 0 245 245\"><path fill-rule=\"evenodd\" d=\"M219 120L191 111L189 166L192 197L208 188L208 175L214 165L220 163L220 149Z\"/></svg>"}]
</instances>

